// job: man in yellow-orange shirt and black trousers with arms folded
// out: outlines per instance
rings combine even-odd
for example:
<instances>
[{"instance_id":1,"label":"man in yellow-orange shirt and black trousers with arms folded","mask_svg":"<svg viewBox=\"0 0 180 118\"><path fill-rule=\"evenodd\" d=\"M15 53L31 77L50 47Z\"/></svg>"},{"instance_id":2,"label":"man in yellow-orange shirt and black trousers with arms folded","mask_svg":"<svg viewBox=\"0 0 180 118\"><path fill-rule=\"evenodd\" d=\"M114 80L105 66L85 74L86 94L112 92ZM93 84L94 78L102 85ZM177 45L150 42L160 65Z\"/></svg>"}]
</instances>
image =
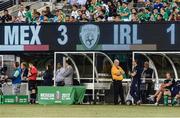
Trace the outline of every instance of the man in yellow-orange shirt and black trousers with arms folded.
<instances>
[{"instance_id":1,"label":"man in yellow-orange shirt and black trousers with arms folded","mask_svg":"<svg viewBox=\"0 0 180 118\"><path fill-rule=\"evenodd\" d=\"M111 68L111 75L113 78L113 84L114 84L114 104L119 104L118 98L120 96L121 98L121 104L125 104L124 101L124 92L123 92L123 86L122 86L122 80L123 80L123 74L124 70L119 66L119 60L115 59L114 64Z\"/></svg>"}]
</instances>

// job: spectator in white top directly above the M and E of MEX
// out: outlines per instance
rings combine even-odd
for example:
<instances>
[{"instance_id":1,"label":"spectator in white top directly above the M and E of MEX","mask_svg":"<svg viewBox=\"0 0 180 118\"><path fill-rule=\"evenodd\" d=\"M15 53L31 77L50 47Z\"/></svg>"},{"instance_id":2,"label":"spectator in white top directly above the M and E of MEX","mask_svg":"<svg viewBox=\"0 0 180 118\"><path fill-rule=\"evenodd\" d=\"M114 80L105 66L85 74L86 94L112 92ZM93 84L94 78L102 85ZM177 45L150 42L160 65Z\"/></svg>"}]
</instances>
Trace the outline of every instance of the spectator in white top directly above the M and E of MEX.
<instances>
[{"instance_id":1,"label":"spectator in white top directly above the M and E of MEX","mask_svg":"<svg viewBox=\"0 0 180 118\"><path fill-rule=\"evenodd\" d=\"M24 10L24 6L20 5L19 11L18 11L18 20L19 20L19 22L26 22L25 13L26 13L26 11Z\"/></svg>"}]
</instances>

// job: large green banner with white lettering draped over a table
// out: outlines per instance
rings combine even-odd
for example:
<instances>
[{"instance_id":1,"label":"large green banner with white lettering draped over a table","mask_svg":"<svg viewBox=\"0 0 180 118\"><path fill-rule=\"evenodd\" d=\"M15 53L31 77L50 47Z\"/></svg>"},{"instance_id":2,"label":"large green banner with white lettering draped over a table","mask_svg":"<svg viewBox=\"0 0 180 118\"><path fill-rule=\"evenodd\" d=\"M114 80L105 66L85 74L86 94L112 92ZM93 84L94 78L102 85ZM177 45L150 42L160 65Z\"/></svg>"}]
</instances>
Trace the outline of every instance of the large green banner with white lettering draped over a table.
<instances>
[{"instance_id":1,"label":"large green banner with white lettering draped over a table","mask_svg":"<svg viewBox=\"0 0 180 118\"><path fill-rule=\"evenodd\" d=\"M84 86L38 87L39 104L76 104L82 103Z\"/></svg>"}]
</instances>

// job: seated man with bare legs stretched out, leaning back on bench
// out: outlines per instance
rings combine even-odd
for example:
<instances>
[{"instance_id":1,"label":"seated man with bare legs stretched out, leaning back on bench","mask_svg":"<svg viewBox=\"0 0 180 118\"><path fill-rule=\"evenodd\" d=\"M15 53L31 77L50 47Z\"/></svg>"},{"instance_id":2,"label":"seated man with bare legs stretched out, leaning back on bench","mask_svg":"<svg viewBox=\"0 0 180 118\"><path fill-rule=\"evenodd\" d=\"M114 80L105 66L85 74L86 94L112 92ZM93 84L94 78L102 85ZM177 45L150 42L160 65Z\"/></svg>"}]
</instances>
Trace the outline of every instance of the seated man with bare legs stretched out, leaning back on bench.
<instances>
[{"instance_id":1,"label":"seated man with bare legs stretched out, leaning back on bench","mask_svg":"<svg viewBox=\"0 0 180 118\"><path fill-rule=\"evenodd\" d=\"M162 95L171 95L171 88L174 83L174 79L171 78L171 74L169 72L166 73L166 79L164 80L164 83L161 84L160 88L156 93L148 98L150 101L154 101L154 98L156 97L156 103L155 105L159 105L159 101L162 97Z\"/></svg>"}]
</instances>

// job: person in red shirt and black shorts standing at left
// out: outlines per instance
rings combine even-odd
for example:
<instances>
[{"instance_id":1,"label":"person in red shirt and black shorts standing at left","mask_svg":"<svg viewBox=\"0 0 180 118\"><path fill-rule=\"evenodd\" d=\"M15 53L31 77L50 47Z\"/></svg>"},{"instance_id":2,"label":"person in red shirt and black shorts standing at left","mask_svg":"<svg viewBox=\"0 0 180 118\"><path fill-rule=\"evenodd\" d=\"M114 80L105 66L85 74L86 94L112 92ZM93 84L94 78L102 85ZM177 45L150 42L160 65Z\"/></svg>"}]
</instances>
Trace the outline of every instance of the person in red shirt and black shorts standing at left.
<instances>
[{"instance_id":1,"label":"person in red shirt and black shorts standing at left","mask_svg":"<svg viewBox=\"0 0 180 118\"><path fill-rule=\"evenodd\" d=\"M29 91L30 91L30 103L35 104L36 103L36 90L37 90L37 85L36 85L36 78L37 78L37 69L36 67L32 64L29 63L29 74L28 74L28 84L29 84Z\"/></svg>"}]
</instances>

